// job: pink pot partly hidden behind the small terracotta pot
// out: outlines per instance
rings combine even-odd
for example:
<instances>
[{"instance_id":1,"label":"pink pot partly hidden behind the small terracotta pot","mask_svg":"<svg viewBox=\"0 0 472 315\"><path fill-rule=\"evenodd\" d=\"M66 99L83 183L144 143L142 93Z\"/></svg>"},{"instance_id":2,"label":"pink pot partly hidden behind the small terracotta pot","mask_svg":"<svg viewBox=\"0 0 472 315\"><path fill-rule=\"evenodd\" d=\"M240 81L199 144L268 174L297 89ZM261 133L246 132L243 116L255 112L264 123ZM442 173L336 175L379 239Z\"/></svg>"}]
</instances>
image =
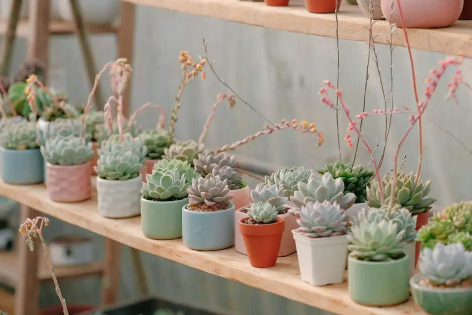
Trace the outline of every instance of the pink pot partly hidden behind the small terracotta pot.
<instances>
[{"instance_id":1,"label":"pink pot partly hidden behind the small terracotta pot","mask_svg":"<svg viewBox=\"0 0 472 315\"><path fill-rule=\"evenodd\" d=\"M234 248L238 253L248 255L246 251L246 246L244 245L243 236L241 235L241 231L239 229L239 223L241 219L247 218L248 215L242 213L241 211L244 210L248 204L244 207L238 209L238 211L234 212ZM289 213L279 215L279 217L285 220L285 228L284 233L282 234L282 242L280 244L279 254L278 257L288 256L293 254L297 251L295 246L295 240L293 239L292 230L298 229L299 225L297 223L297 218L290 215Z\"/></svg>"}]
</instances>

